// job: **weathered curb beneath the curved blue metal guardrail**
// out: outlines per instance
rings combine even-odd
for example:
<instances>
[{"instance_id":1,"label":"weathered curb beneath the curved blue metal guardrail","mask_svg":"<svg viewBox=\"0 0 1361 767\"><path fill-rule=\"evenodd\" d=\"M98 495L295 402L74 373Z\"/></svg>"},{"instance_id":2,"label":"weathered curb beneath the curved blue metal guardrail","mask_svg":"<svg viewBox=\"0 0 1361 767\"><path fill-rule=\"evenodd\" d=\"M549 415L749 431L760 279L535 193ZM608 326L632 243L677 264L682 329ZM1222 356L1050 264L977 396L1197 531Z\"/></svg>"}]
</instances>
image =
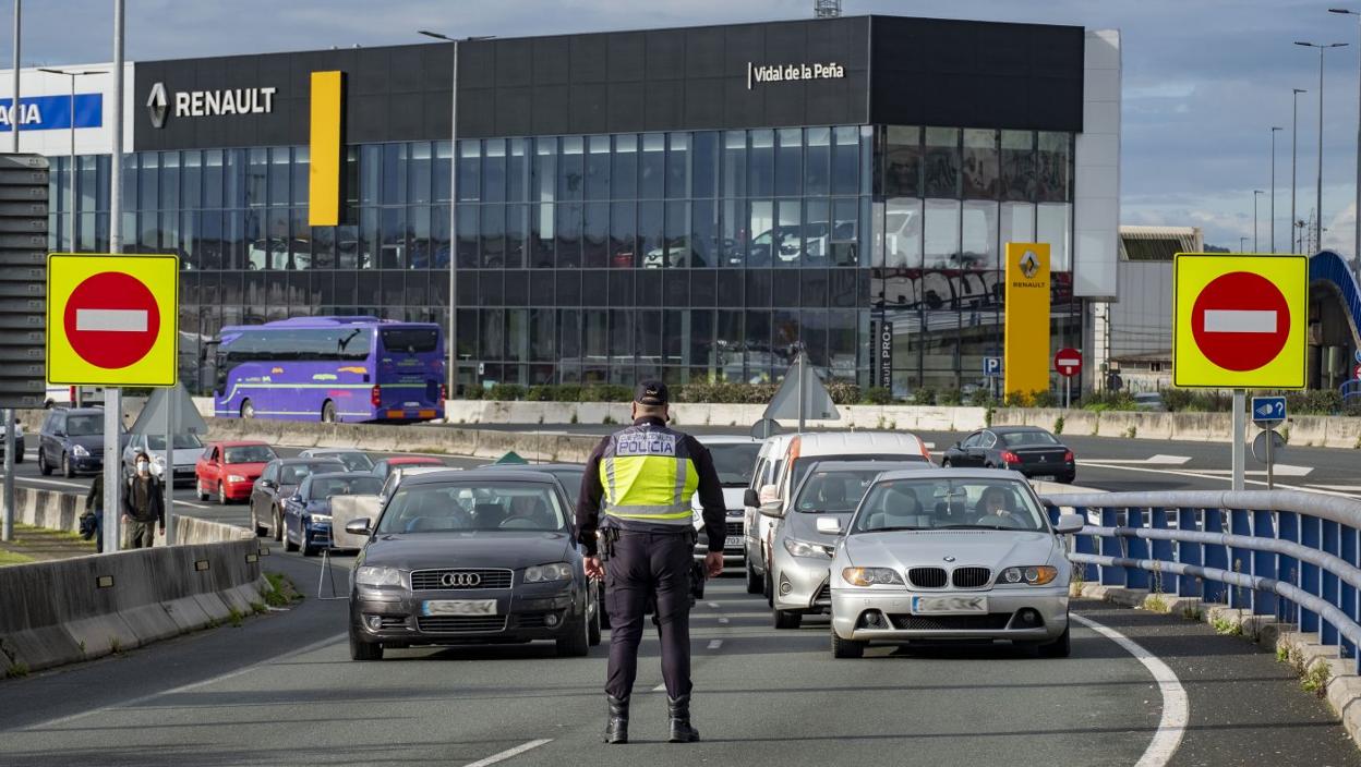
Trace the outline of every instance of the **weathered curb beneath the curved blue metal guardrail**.
<instances>
[{"instance_id":1,"label":"weathered curb beneath the curved blue metal guardrail","mask_svg":"<svg viewBox=\"0 0 1361 767\"><path fill-rule=\"evenodd\" d=\"M1342 729L1361 748L1361 676L1357 675L1357 662L1354 658L1341 657L1338 646L1322 645L1317 632L1301 632L1296 624L1281 623L1274 615L1253 615L1245 609L1204 604L1199 597L1151 594L1143 589L1097 583L1075 583L1071 593L1120 607L1200 620L1219 634L1273 647L1278 660L1294 666L1307 692L1328 702Z\"/></svg>"}]
</instances>

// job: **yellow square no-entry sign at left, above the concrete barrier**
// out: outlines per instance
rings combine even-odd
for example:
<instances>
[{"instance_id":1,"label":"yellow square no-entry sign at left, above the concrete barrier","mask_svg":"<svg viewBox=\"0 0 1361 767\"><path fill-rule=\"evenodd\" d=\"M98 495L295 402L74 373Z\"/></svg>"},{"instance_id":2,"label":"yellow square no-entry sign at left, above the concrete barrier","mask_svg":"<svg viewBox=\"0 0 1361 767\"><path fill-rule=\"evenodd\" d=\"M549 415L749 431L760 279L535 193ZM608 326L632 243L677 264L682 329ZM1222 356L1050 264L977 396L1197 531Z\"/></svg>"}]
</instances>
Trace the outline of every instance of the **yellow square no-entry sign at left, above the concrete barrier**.
<instances>
[{"instance_id":1,"label":"yellow square no-entry sign at left, above the concrete barrier","mask_svg":"<svg viewBox=\"0 0 1361 767\"><path fill-rule=\"evenodd\" d=\"M48 381L174 386L180 258L48 256Z\"/></svg>"}]
</instances>

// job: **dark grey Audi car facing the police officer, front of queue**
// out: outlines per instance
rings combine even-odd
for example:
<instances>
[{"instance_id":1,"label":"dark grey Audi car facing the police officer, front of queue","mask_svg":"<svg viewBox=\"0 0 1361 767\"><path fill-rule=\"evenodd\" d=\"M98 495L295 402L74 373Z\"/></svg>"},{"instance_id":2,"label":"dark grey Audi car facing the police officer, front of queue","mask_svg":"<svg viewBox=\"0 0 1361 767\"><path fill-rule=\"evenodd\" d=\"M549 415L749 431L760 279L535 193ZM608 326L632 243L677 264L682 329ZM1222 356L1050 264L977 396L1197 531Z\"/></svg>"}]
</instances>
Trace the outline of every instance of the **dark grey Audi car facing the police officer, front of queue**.
<instances>
[{"instance_id":1,"label":"dark grey Audi car facing the police officer, front of queue","mask_svg":"<svg viewBox=\"0 0 1361 767\"><path fill-rule=\"evenodd\" d=\"M350 583L350 657L385 647L551 639L559 655L599 643L595 589L572 505L553 476L470 469L407 477L367 536Z\"/></svg>"}]
</instances>

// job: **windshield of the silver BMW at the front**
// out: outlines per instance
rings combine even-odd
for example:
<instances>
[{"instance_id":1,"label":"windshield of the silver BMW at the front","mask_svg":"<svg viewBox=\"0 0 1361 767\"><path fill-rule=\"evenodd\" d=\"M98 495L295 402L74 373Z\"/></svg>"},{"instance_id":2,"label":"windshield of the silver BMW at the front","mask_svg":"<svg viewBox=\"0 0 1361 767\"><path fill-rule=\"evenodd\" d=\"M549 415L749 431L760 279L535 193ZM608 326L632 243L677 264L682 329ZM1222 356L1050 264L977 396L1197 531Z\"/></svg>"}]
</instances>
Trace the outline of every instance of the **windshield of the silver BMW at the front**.
<instances>
[{"instance_id":1,"label":"windshield of the silver BMW at the front","mask_svg":"<svg viewBox=\"0 0 1361 767\"><path fill-rule=\"evenodd\" d=\"M852 534L940 529L1045 530L1048 526L1022 483L958 477L875 483L851 525Z\"/></svg>"}]
</instances>

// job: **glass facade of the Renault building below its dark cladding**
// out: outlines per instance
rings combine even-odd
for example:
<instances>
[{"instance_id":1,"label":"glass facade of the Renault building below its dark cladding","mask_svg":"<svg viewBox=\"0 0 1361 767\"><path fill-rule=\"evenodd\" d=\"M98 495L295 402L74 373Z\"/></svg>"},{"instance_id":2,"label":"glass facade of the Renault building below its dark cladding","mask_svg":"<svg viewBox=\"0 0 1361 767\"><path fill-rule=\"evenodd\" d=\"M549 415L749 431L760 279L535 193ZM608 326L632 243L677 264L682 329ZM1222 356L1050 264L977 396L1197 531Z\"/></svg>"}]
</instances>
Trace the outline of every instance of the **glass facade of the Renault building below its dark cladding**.
<instances>
[{"instance_id":1,"label":"glass facade of the Renault building below its dark cladding","mask_svg":"<svg viewBox=\"0 0 1361 767\"><path fill-rule=\"evenodd\" d=\"M450 173L450 158L457 167ZM124 159L128 252L182 261L184 375L223 325L445 322L461 386L768 381L799 347L871 385L968 386L1000 352L1007 241L1052 243L1075 343L1072 135L825 125L348 147L344 226L308 226L306 147ZM52 248L68 160L53 158ZM78 250L108 248L109 158L76 160ZM457 216L450 238L449 209ZM872 352L874 350L874 352Z\"/></svg>"}]
</instances>

